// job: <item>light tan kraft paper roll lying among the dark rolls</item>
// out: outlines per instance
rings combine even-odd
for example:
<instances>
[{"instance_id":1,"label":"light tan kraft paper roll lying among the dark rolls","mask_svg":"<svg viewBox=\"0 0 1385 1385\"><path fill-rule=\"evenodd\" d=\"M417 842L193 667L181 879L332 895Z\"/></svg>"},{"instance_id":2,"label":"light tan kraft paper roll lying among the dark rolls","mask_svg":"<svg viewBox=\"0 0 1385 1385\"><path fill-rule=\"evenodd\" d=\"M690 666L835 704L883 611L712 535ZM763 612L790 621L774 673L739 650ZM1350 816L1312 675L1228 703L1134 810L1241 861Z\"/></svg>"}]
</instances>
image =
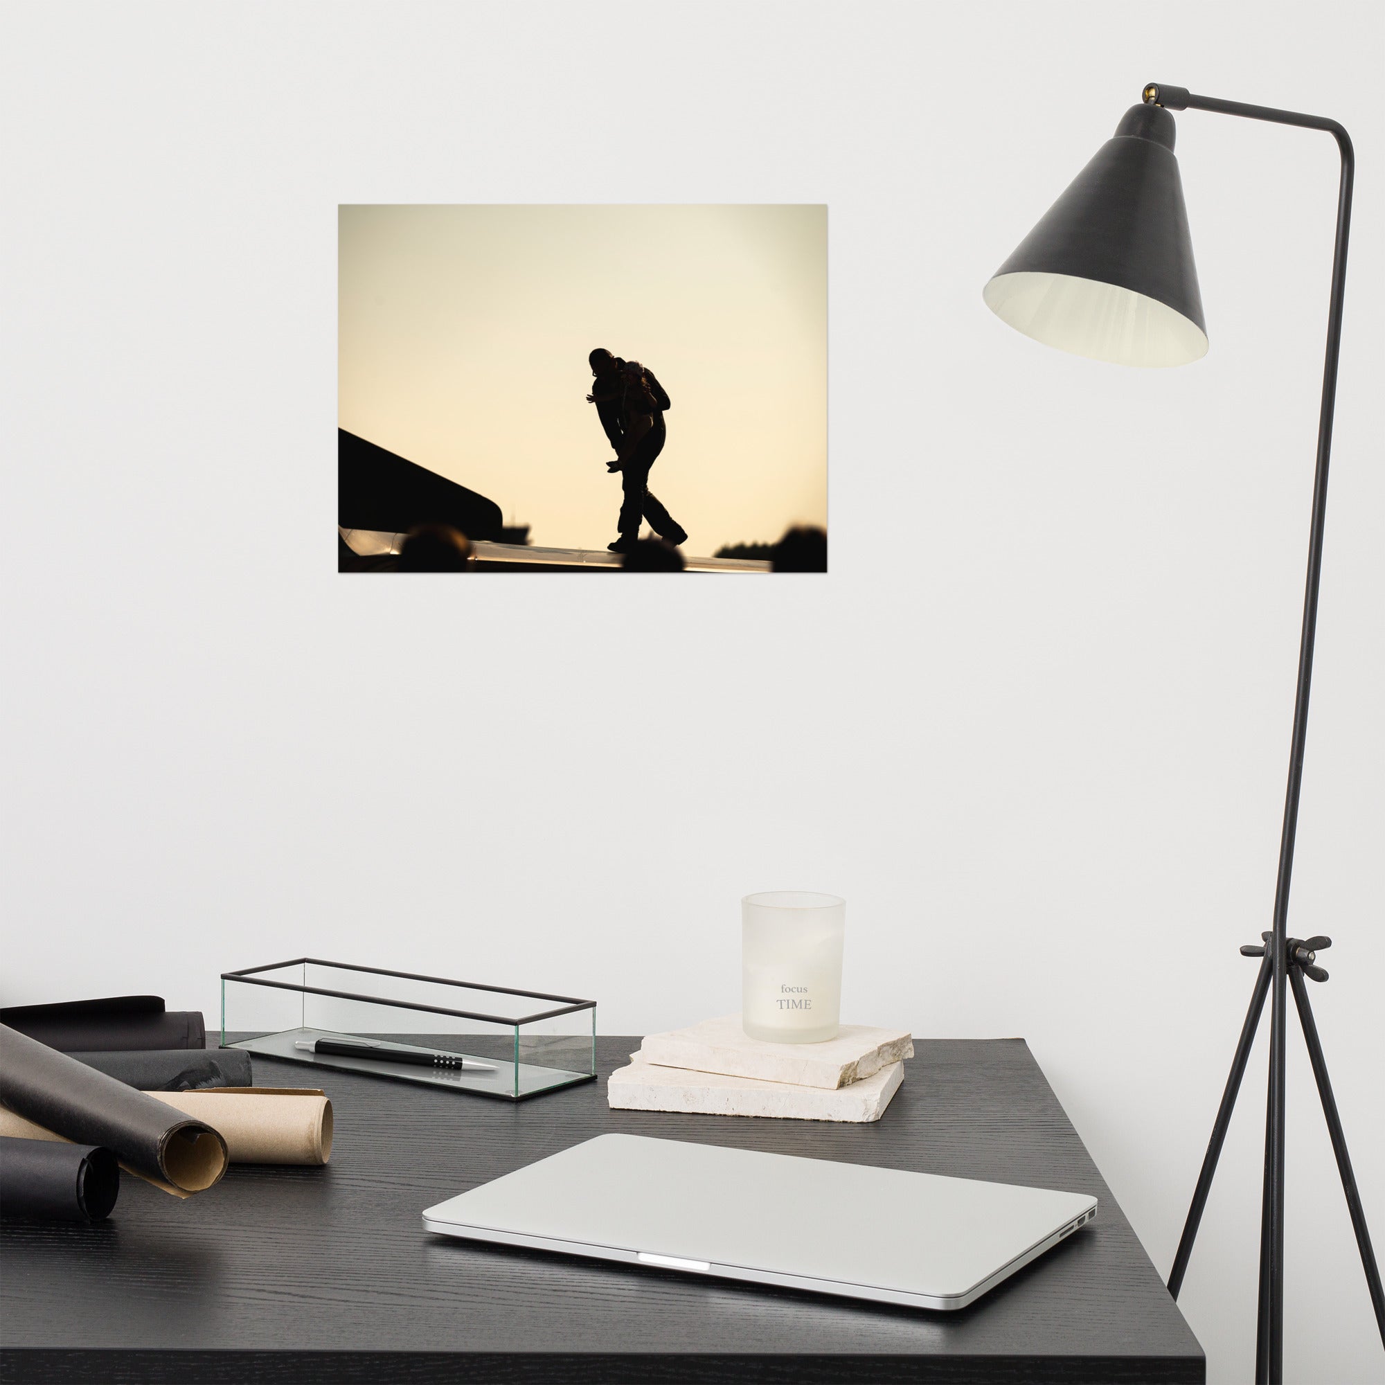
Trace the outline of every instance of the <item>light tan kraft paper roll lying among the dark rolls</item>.
<instances>
[{"instance_id":1,"label":"light tan kraft paper roll lying among the dark rolls","mask_svg":"<svg viewBox=\"0 0 1385 1385\"><path fill-rule=\"evenodd\" d=\"M220 1132L231 1163L325 1163L332 1152L332 1104L319 1087L223 1087L150 1096Z\"/></svg>"}]
</instances>

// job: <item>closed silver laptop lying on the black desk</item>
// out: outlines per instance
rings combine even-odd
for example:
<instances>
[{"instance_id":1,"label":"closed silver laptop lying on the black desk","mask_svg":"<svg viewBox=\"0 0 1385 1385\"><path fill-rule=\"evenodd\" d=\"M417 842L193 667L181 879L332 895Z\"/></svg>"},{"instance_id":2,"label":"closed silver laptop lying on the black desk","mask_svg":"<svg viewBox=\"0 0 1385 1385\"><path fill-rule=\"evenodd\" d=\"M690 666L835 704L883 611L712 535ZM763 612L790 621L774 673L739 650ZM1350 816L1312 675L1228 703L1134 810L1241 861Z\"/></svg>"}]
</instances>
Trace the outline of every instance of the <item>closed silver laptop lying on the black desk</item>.
<instances>
[{"instance_id":1,"label":"closed silver laptop lying on the black desk","mask_svg":"<svg viewBox=\"0 0 1385 1385\"><path fill-rule=\"evenodd\" d=\"M1097 1215L1084 1192L602 1134L424 1212L424 1230L958 1309Z\"/></svg>"}]
</instances>

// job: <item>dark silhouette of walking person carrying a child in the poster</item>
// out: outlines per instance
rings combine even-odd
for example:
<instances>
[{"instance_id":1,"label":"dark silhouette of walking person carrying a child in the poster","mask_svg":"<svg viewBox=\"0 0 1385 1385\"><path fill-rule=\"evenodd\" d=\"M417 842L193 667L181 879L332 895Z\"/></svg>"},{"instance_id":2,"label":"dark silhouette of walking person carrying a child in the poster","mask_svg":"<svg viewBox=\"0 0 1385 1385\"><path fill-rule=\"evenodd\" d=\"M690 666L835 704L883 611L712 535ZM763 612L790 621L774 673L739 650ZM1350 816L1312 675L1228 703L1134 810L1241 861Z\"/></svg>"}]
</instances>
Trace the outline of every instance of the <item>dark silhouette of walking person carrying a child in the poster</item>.
<instances>
[{"instance_id":1,"label":"dark silhouette of walking person carrying a child in the poster","mask_svg":"<svg viewBox=\"0 0 1385 1385\"><path fill-rule=\"evenodd\" d=\"M615 447L615 461L607 471L620 472L620 536L607 547L612 553L630 553L640 540L640 519L672 544L687 542L687 530L663 508L650 490L650 468L663 452L668 432L663 411L669 396L654 371L637 360L622 360L598 346L587 357L596 384L587 403L597 406L597 417Z\"/></svg>"}]
</instances>

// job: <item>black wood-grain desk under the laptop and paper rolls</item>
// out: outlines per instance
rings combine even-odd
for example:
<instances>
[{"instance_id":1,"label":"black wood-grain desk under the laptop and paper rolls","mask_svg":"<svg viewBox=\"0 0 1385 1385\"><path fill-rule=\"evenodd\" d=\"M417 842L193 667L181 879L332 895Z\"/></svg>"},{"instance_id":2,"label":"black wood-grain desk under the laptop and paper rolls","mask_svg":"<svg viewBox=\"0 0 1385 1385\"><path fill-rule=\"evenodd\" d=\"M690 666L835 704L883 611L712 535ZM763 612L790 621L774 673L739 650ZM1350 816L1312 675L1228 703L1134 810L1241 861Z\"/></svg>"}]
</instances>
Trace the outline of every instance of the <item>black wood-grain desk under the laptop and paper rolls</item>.
<instances>
[{"instance_id":1,"label":"black wood-grain desk under the laptop and paper rolls","mask_svg":"<svg viewBox=\"0 0 1385 1385\"><path fill-rule=\"evenodd\" d=\"M636 1044L600 1040L602 1078ZM510 1105L321 1072L325 1169L233 1168L187 1202L126 1177L105 1226L7 1224L0 1378L1202 1381L1197 1339L1025 1043L917 1048L867 1126L609 1111L604 1080ZM255 1080L307 1079L256 1057ZM607 1130L1069 1188L1101 1210L960 1313L422 1233L425 1206Z\"/></svg>"}]
</instances>

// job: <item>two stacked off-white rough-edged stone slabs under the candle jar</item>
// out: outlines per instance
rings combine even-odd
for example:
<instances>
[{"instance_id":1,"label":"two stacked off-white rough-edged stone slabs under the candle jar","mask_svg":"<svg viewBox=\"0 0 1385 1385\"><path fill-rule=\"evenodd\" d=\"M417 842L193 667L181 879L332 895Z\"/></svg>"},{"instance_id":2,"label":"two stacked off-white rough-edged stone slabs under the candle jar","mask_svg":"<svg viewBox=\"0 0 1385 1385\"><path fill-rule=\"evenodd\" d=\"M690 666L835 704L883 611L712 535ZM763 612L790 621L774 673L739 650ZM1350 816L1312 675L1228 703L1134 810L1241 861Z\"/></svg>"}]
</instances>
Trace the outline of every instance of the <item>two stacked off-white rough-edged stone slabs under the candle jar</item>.
<instances>
[{"instance_id":1,"label":"two stacked off-white rough-edged stone slabs under the candle jar","mask_svg":"<svg viewBox=\"0 0 1385 1385\"><path fill-rule=\"evenodd\" d=\"M650 1035L611 1073L607 1100L627 1111L878 1120L913 1055L903 1029L842 1025L827 1043L763 1043L740 1015L723 1015Z\"/></svg>"}]
</instances>

